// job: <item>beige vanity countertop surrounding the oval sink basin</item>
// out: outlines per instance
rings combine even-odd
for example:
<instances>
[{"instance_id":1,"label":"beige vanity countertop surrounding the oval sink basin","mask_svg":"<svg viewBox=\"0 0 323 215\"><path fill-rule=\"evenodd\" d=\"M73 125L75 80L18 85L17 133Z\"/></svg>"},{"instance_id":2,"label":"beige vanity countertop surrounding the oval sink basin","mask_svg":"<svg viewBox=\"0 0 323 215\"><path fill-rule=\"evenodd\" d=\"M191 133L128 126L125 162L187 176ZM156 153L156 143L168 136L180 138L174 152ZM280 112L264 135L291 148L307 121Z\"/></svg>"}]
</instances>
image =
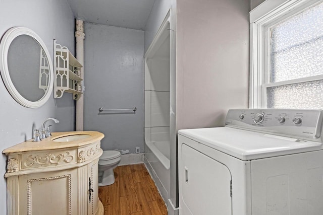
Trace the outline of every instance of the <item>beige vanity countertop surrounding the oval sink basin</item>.
<instances>
[{"instance_id":1,"label":"beige vanity countertop surrounding the oval sink basin","mask_svg":"<svg viewBox=\"0 0 323 215\"><path fill-rule=\"evenodd\" d=\"M70 135L79 135L79 134L87 134L90 137L83 138L81 140L74 141L53 141L54 139L70 136ZM43 139L38 142L33 142L33 139L29 139L27 141L21 142L13 147L7 148L3 151L4 154L8 155L11 153L21 153L21 152L29 152L29 151L42 151L42 150L56 150L56 149L66 149L66 148L74 148L81 147L88 144L91 144L95 141L99 141L104 137L103 133L98 131L66 131L66 132L53 132L52 136Z\"/></svg>"}]
</instances>

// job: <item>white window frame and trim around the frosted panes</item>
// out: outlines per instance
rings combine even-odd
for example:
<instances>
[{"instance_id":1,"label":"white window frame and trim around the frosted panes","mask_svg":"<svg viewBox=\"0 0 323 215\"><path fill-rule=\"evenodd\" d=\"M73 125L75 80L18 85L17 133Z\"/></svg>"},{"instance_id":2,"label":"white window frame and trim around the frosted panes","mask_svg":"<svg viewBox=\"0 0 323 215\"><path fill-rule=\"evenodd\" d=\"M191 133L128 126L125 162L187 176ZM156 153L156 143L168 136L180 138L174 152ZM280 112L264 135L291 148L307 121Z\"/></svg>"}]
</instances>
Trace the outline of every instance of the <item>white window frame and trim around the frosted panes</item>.
<instances>
[{"instance_id":1,"label":"white window frame and trim around the frosted panes","mask_svg":"<svg viewBox=\"0 0 323 215\"><path fill-rule=\"evenodd\" d=\"M270 37L273 26L323 0L266 0L250 12L249 108L266 108L267 88L323 80L323 75L270 82Z\"/></svg>"}]
</instances>

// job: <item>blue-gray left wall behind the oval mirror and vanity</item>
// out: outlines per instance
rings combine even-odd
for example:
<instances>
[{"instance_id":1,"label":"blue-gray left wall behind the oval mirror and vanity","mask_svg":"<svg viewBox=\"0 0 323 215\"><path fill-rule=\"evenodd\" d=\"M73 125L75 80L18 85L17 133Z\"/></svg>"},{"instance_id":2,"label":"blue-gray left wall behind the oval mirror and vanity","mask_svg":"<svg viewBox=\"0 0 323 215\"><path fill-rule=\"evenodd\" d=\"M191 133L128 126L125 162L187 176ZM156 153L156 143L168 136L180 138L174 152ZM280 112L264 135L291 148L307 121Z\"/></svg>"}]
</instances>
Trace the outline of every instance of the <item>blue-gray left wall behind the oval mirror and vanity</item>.
<instances>
[{"instance_id":1,"label":"blue-gray left wall behind the oval mirror and vanity","mask_svg":"<svg viewBox=\"0 0 323 215\"><path fill-rule=\"evenodd\" d=\"M74 52L74 17L65 0L0 0L0 37L14 26L28 27L46 44L52 59L53 39ZM71 94L61 99L53 96L39 108L18 104L0 81L0 144L1 151L32 137L32 129L39 128L44 119L56 117L61 122L53 131L74 130L75 105ZM0 176L6 172L6 156L0 158ZM0 180L0 214L7 214L6 179Z\"/></svg>"}]
</instances>

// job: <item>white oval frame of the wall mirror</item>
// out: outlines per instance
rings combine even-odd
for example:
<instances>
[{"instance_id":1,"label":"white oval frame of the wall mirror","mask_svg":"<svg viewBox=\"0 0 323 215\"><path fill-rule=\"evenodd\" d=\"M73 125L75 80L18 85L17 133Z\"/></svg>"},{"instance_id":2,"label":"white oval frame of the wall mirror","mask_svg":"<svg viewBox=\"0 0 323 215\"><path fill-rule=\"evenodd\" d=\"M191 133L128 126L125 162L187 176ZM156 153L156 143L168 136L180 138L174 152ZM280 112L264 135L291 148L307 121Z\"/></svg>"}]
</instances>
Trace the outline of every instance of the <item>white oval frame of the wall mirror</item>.
<instances>
[{"instance_id":1,"label":"white oval frame of the wall mirror","mask_svg":"<svg viewBox=\"0 0 323 215\"><path fill-rule=\"evenodd\" d=\"M44 96L39 99L38 101L29 101L25 99L16 89L14 86L10 74L9 74L9 68L8 68L8 51L9 47L12 43L12 41L20 36L20 35L27 35L32 37L34 40L38 42L40 47L43 49L48 65L49 65L49 80L48 80L48 88L47 91L45 92ZM7 90L11 94L11 96L21 105L28 107L28 108L37 108L42 106L47 102L49 99L52 89L53 89L53 82L54 82L54 74L53 74L53 66L51 62L51 58L48 52L48 49L45 45L45 43L42 41L42 39L32 30L25 28L25 27L13 27L9 29L4 37L1 40L0 43L0 54L1 54L1 59L0 59L0 71L1 71L1 76L2 79L6 85ZM36 71L35 71L36 72ZM38 71L37 71L38 72Z\"/></svg>"}]
</instances>

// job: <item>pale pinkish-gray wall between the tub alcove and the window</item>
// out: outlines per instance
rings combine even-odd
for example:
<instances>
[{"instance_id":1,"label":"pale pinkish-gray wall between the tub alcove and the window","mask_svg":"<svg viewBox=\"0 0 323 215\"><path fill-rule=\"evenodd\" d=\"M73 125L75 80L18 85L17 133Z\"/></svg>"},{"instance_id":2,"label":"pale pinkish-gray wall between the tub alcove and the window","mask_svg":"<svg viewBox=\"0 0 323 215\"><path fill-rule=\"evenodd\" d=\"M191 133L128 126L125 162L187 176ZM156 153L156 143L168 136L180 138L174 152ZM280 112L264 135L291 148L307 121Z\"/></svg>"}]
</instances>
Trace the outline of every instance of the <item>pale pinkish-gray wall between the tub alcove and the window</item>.
<instances>
[{"instance_id":1,"label":"pale pinkish-gray wall between the tub alcove and the window","mask_svg":"<svg viewBox=\"0 0 323 215\"><path fill-rule=\"evenodd\" d=\"M177 128L224 126L248 107L249 0L177 1Z\"/></svg>"}]
</instances>

